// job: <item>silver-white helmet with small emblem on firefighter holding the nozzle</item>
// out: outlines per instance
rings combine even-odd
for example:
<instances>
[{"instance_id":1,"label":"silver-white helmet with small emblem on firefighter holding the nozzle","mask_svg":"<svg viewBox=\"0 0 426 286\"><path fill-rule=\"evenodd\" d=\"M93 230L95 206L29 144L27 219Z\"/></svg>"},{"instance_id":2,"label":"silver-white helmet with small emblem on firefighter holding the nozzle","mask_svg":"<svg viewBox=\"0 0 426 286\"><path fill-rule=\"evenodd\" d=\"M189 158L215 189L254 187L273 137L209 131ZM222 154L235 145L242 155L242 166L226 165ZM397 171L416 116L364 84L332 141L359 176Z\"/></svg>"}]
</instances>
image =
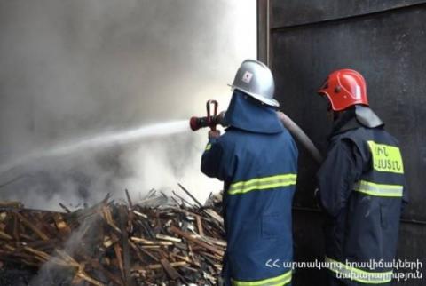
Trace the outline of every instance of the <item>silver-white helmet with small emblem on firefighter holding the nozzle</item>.
<instances>
[{"instance_id":1,"label":"silver-white helmet with small emblem on firefighter holding the nozzle","mask_svg":"<svg viewBox=\"0 0 426 286\"><path fill-rule=\"evenodd\" d=\"M244 60L235 75L233 89L247 93L249 96L272 107L280 103L273 99L275 84L271 70L258 60Z\"/></svg>"}]
</instances>

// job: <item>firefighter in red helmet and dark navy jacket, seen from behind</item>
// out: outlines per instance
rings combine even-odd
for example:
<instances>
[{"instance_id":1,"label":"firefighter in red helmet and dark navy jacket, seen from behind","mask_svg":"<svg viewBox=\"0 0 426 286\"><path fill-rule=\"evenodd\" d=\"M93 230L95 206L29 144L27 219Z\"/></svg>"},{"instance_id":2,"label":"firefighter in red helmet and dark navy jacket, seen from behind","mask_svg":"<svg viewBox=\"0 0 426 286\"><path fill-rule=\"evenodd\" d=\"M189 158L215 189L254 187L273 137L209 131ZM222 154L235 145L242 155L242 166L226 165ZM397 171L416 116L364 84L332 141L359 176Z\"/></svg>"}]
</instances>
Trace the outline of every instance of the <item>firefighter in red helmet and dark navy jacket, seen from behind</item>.
<instances>
[{"instance_id":1,"label":"firefighter in red helmet and dark navy jacket, seen from behind","mask_svg":"<svg viewBox=\"0 0 426 286\"><path fill-rule=\"evenodd\" d=\"M327 285L390 285L407 203L398 141L369 107L366 82L357 71L331 73L318 92L333 113L316 192L327 213Z\"/></svg>"}]
</instances>

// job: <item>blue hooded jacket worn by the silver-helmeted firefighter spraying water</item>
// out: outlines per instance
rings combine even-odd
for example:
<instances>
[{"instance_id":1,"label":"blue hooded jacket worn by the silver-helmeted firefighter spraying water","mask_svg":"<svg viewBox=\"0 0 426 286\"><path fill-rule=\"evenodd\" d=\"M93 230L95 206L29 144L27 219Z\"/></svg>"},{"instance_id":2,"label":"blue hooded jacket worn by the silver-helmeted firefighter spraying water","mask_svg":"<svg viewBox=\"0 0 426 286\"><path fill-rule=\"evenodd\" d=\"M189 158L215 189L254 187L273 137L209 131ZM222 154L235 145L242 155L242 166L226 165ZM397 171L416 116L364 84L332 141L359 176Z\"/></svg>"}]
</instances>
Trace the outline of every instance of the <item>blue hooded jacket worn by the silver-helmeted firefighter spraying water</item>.
<instances>
[{"instance_id":1,"label":"blue hooded jacket worn by the silver-helmeted firefighter spraying water","mask_svg":"<svg viewBox=\"0 0 426 286\"><path fill-rule=\"evenodd\" d=\"M225 121L225 134L209 139L201 158L201 171L224 181L225 285L288 285L296 144L273 107L241 91Z\"/></svg>"}]
</instances>

